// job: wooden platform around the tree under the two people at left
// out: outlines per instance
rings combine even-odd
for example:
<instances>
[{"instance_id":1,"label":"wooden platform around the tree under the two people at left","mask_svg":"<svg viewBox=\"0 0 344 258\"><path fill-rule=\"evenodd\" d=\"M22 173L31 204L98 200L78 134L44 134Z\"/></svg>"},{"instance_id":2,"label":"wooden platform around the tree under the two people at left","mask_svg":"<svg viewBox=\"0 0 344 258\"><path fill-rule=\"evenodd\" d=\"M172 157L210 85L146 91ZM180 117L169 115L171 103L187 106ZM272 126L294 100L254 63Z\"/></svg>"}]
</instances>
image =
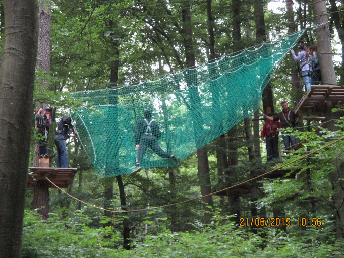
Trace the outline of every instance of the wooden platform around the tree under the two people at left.
<instances>
[{"instance_id":1,"label":"wooden platform around the tree under the two people at left","mask_svg":"<svg viewBox=\"0 0 344 258\"><path fill-rule=\"evenodd\" d=\"M75 174L77 173L77 168L55 168L55 167L29 167L29 170L33 173L33 177L36 181L39 180L46 180L45 176L48 177L54 184L61 188L67 188L74 179ZM35 181L31 177L28 176L27 186L33 187ZM53 186L49 182L49 187L53 188Z\"/></svg>"}]
</instances>

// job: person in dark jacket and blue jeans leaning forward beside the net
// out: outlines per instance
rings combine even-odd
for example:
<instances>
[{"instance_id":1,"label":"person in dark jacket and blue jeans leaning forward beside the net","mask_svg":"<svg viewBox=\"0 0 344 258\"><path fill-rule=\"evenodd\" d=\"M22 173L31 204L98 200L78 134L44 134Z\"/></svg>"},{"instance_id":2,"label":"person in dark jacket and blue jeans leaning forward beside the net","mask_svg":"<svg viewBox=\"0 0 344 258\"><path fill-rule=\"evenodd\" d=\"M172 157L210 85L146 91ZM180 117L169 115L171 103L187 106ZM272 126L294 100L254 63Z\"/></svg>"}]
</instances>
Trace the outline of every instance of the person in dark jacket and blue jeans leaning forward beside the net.
<instances>
[{"instance_id":1,"label":"person in dark jacket and blue jeans leaning forward beside the net","mask_svg":"<svg viewBox=\"0 0 344 258\"><path fill-rule=\"evenodd\" d=\"M56 157L56 167L68 167L68 154L66 139L70 137L69 131L73 131L73 137L76 137L76 132L71 123L71 118L69 116L61 117L61 120L56 128L55 132L55 144L58 150L58 156Z\"/></svg>"}]
</instances>

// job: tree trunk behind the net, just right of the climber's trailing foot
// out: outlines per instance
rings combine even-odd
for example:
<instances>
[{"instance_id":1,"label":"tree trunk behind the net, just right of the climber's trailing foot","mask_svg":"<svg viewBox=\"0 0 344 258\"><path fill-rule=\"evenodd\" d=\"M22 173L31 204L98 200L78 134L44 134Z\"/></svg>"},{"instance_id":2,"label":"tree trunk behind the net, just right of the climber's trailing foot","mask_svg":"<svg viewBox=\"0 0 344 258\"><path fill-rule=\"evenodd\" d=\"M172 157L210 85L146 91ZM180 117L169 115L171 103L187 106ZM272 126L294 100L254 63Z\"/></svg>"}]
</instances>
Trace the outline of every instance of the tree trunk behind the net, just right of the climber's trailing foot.
<instances>
[{"instance_id":1,"label":"tree trunk behind the net, just right of the climber's trailing foot","mask_svg":"<svg viewBox=\"0 0 344 258\"><path fill-rule=\"evenodd\" d=\"M182 19L183 19L183 34L184 34L184 48L185 48L185 58L187 67L195 67L195 53L192 42L192 24L191 24L191 10L190 10L190 1L183 1L182 9ZM193 72L193 71L189 71ZM194 87L191 87L194 88ZM195 89L191 89L195 91ZM198 92L191 92L190 98L196 102L200 102ZM197 110L191 110L192 113L197 112ZM195 132L196 133L196 132ZM197 145L197 143L196 143ZM211 193L211 183L210 183L210 174L209 174L209 163L208 163L208 153L206 147L197 149L197 160L198 160L198 177L201 185L202 196L208 195ZM203 202L206 204L205 209L209 210L207 206L213 206L212 196L207 196L202 198ZM206 217L211 217L212 214L209 212L205 213Z\"/></svg>"}]
</instances>

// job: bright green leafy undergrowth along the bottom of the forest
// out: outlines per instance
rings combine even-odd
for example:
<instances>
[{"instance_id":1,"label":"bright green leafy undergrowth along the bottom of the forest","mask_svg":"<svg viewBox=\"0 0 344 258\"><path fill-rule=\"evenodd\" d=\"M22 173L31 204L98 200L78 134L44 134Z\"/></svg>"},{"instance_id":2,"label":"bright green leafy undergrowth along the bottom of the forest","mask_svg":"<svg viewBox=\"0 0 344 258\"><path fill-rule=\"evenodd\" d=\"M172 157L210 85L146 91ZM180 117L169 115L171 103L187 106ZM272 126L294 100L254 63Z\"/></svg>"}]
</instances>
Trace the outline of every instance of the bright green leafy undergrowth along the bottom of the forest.
<instances>
[{"instance_id":1,"label":"bright green leafy undergrowth along the bottom of the forest","mask_svg":"<svg viewBox=\"0 0 344 258\"><path fill-rule=\"evenodd\" d=\"M190 231L171 232L162 227L156 235L134 241L134 249L127 251L112 244L120 238L119 231L91 228L87 226L90 218L82 213L66 220L51 214L48 221L41 221L37 213L26 211L23 257L339 257L344 247L321 227L290 235L270 227L264 229L268 237L263 239L236 228L230 217L219 213L209 225L193 222Z\"/></svg>"}]
</instances>

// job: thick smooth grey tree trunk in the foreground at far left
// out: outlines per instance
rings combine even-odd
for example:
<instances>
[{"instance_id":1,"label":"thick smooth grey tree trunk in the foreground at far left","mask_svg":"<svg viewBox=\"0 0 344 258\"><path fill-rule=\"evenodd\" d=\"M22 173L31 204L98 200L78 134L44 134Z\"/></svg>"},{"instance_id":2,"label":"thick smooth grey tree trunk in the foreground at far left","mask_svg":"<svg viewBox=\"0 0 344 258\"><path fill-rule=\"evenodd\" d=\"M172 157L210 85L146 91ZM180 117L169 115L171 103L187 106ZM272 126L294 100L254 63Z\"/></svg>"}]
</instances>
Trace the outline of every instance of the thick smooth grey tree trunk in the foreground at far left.
<instances>
[{"instance_id":1,"label":"thick smooth grey tree trunk in the foreground at far left","mask_svg":"<svg viewBox=\"0 0 344 258\"><path fill-rule=\"evenodd\" d=\"M4 0L3 3L5 33L0 58L0 252L2 257L19 258L30 152L38 12L34 0Z\"/></svg>"}]
</instances>

